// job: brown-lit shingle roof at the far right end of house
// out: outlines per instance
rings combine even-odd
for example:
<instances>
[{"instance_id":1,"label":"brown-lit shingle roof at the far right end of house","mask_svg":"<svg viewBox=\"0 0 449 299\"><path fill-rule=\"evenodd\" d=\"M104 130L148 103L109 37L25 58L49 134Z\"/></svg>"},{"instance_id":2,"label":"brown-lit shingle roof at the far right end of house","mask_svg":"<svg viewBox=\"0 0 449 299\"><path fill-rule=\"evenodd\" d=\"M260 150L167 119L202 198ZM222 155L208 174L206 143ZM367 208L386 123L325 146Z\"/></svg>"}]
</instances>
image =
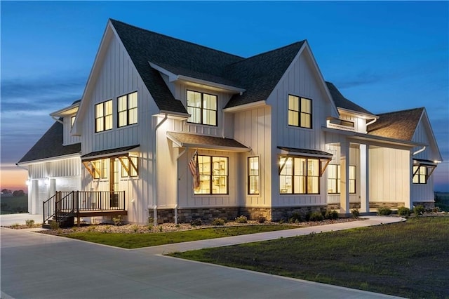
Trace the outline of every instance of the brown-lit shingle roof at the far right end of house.
<instances>
[{"instance_id":1,"label":"brown-lit shingle roof at the far right end of house","mask_svg":"<svg viewBox=\"0 0 449 299\"><path fill-rule=\"evenodd\" d=\"M368 134L411 141L424 107L377 114L379 119L368 126Z\"/></svg>"}]
</instances>

